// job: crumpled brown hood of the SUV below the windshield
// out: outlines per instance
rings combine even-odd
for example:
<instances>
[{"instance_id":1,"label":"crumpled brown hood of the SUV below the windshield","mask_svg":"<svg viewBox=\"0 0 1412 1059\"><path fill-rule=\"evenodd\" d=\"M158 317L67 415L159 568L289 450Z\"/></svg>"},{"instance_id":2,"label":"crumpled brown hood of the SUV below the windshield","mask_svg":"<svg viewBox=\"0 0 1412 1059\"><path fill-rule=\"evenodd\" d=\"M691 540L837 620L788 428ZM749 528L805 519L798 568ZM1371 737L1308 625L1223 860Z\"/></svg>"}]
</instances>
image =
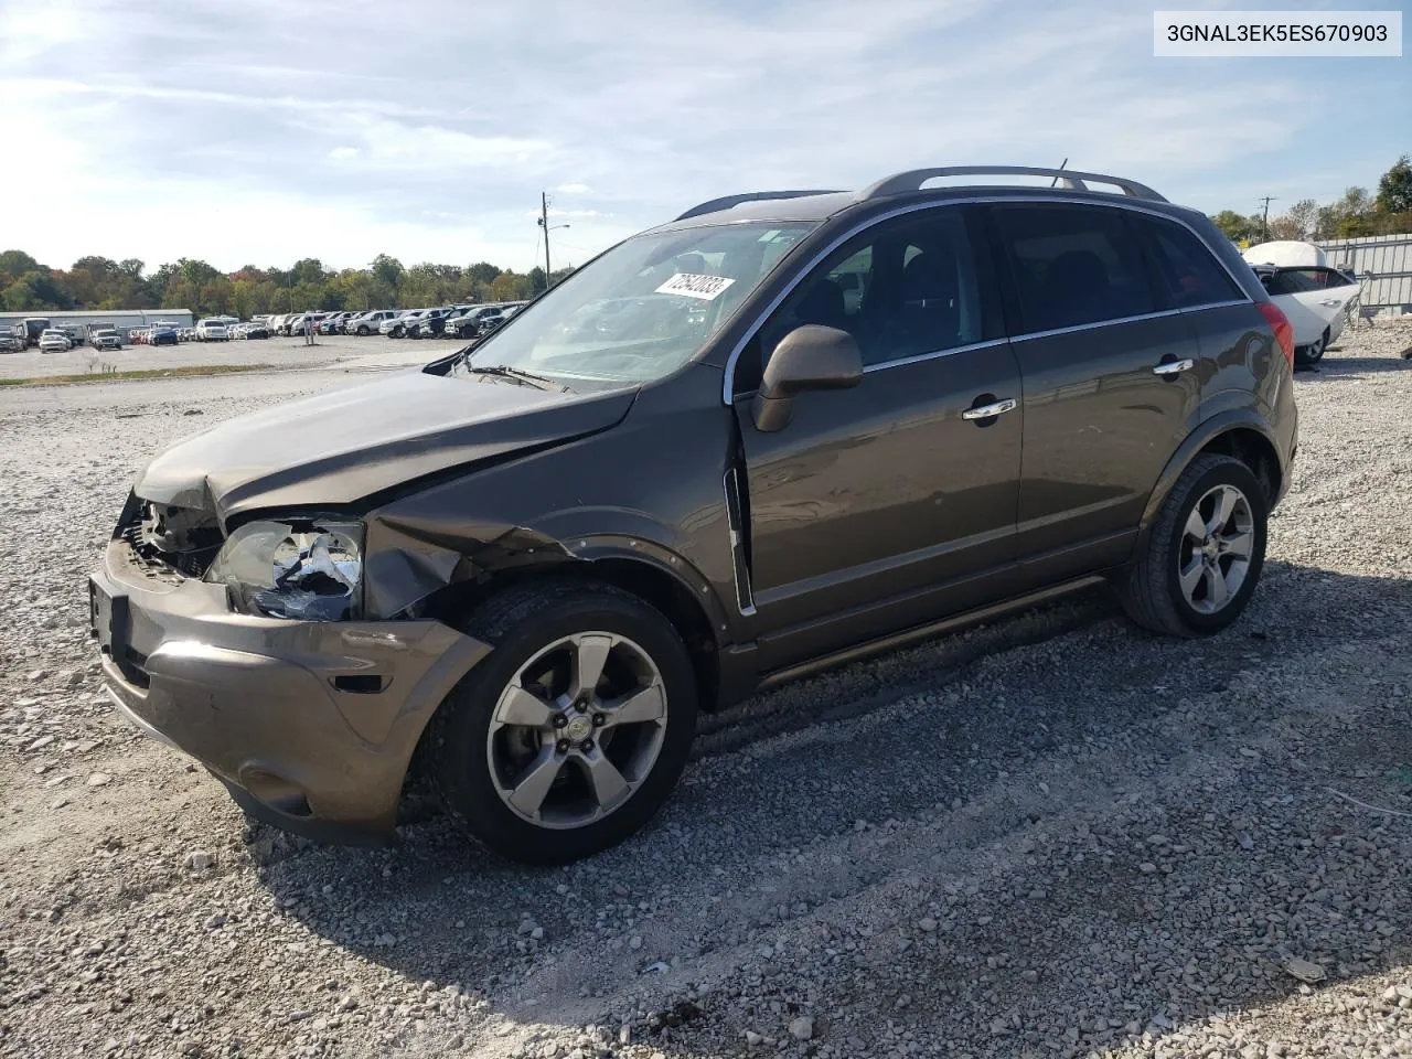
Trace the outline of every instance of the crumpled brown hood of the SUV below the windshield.
<instances>
[{"instance_id":1,"label":"crumpled brown hood of the SUV below the windshield","mask_svg":"<svg viewBox=\"0 0 1412 1059\"><path fill-rule=\"evenodd\" d=\"M148 463L144 500L213 511L353 504L409 479L604 431L634 388L561 394L408 371L241 415Z\"/></svg>"}]
</instances>

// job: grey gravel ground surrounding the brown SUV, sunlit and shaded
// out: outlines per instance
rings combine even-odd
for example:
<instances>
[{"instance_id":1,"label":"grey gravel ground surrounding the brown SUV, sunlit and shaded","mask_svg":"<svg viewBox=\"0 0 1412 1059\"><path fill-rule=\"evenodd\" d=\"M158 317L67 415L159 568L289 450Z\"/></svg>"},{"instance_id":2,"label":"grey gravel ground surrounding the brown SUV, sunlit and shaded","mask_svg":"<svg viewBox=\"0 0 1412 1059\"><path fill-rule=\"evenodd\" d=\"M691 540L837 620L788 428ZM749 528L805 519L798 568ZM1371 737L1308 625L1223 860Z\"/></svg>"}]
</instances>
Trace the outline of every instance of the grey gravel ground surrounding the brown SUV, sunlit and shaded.
<instances>
[{"instance_id":1,"label":"grey gravel ground surrounding the brown SUV, sunlit and shaded","mask_svg":"<svg viewBox=\"0 0 1412 1059\"><path fill-rule=\"evenodd\" d=\"M1298 376L1226 634L1096 593L782 688L555 870L251 826L99 693L131 467L346 373L0 393L0 1053L1412 1055L1408 346Z\"/></svg>"}]
</instances>

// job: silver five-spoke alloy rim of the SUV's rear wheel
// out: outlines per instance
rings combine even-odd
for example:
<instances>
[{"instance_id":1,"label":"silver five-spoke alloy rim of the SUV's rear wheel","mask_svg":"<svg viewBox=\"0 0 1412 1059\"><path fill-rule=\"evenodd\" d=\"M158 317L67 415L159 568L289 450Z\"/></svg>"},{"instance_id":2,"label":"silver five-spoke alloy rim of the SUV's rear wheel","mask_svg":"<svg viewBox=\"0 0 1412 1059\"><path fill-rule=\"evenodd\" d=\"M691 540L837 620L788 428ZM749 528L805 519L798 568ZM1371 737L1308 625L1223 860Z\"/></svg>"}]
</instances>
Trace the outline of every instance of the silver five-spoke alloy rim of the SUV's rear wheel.
<instances>
[{"instance_id":1,"label":"silver five-spoke alloy rim of the SUV's rear wheel","mask_svg":"<svg viewBox=\"0 0 1412 1059\"><path fill-rule=\"evenodd\" d=\"M1199 614L1216 614L1240 593L1255 548L1250 500L1236 486L1207 490L1182 528L1178 583Z\"/></svg>"}]
</instances>

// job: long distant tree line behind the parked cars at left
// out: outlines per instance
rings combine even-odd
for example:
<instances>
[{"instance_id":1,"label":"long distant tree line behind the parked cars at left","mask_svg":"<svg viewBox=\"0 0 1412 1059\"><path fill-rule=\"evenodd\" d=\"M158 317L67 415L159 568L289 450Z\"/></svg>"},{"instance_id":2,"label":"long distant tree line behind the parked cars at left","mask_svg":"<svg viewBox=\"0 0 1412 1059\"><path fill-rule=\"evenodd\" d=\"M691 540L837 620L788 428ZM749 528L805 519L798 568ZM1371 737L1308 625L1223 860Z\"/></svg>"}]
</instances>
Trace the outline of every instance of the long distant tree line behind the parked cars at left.
<instances>
[{"instance_id":1,"label":"long distant tree line behind the parked cars at left","mask_svg":"<svg viewBox=\"0 0 1412 1059\"><path fill-rule=\"evenodd\" d=\"M393 309L455 302L527 301L545 289L544 268L528 273L489 261L402 265L378 254L367 268L325 268L318 258L291 268L246 265L234 273L184 257L155 271L137 258L80 257L72 268L49 268L23 250L0 253L0 306L30 309L191 309L198 316L257 312ZM556 270L559 282L572 268Z\"/></svg>"}]
</instances>

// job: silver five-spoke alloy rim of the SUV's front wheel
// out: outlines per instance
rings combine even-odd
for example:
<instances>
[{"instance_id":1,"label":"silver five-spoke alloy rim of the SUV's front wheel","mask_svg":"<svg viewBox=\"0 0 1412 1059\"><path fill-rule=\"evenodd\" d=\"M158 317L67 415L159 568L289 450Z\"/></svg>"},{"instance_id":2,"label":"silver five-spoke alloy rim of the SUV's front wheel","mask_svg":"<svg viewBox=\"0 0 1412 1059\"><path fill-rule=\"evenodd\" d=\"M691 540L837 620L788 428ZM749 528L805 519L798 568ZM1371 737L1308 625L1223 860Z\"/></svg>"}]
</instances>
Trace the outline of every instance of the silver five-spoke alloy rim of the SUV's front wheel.
<instances>
[{"instance_id":1,"label":"silver five-spoke alloy rim of the SUV's front wheel","mask_svg":"<svg viewBox=\"0 0 1412 1059\"><path fill-rule=\"evenodd\" d=\"M666 736L666 689L652 658L616 633L578 633L520 666L486 740L491 782L520 818L556 830L621 808Z\"/></svg>"}]
</instances>

